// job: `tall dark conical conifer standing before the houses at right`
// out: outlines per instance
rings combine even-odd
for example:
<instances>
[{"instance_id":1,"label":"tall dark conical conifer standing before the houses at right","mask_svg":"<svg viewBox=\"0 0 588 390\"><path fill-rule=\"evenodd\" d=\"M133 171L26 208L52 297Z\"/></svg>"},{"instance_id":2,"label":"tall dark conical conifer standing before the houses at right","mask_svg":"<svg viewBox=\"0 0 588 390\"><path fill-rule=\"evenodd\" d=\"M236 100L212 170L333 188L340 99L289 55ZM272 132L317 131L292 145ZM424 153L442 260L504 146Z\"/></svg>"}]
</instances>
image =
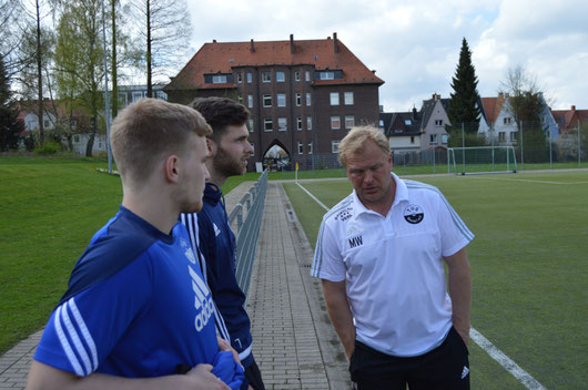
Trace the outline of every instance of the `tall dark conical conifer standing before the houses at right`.
<instances>
[{"instance_id":1,"label":"tall dark conical conifer standing before the houses at right","mask_svg":"<svg viewBox=\"0 0 588 390\"><path fill-rule=\"evenodd\" d=\"M454 93L450 94L452 100L447 110L449 122L455 127L465 123L466 133L477 133L480 116L478 78L476 76L476 69L472 64L472 51L465 38L462 41L459 63L452 80Z\"/></svg>"}]
</instances>

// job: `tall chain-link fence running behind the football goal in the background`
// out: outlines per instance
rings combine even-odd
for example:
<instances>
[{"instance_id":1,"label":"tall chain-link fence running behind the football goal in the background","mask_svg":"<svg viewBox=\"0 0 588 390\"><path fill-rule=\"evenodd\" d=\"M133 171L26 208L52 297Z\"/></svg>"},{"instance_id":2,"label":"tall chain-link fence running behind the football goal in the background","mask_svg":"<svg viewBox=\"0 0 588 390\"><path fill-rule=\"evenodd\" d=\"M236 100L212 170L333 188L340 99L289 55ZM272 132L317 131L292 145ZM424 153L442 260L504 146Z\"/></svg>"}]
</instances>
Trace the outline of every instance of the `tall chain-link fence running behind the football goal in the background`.
<instances>
[{"instance_id":1,"label":"tall chain-link fence running behind the football goal in the background","mask_svg":"<svg viewBox=\"0 0 588 390\"><path fill-rule=\"evenodd\" d=\"M504 122L504 121L503 121ZM508 121L507 121L508 122ZM549 130L543 123L505 123L486 127L458 124L436 129L416 136L415 145L395 147L398 136L391 138L393 171L401 175L503 172L558 168L588 168L588 122L569 130ZM413 136L414 141L415 136ZM409 140L410 136L407 136ZM439 141L432 144L432 140ZM345 176L336 153L295 156L277 178Z\"/></svg>"}]
</instances>

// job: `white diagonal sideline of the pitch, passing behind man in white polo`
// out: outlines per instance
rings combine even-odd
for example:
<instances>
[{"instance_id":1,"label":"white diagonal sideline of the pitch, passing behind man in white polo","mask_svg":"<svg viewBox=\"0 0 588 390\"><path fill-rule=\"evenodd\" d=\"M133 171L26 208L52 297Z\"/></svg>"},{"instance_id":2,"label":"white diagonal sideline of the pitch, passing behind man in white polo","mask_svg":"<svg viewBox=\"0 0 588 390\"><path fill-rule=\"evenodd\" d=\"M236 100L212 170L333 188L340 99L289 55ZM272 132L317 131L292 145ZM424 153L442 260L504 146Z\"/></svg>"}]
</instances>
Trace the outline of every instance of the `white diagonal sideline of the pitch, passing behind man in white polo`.
<instances>
[{"instance_id":1,"label":"white diagonal sideline of the pitch, passing behind man in white polo","mask_svg":"<svg viewBox=\"0 0 588 390\"><path fill-rule=\"evenodd\" d=\"M310 197L312 197L321 207L325 211L330 211L321 201L316 198L308 189L304 188L298 182L296 182L298 187L301 187ZM535 378L533 378L527 371L520 368L513 359L503 353L494 343L490 342L487 338L481 336L479 331L474 328L469 329L469 337L474 342L476 342L486 353L490 356L498 365L503 366L505 370L510 372L523 386L529 390L547 390L541 383L539 383Z\"/></svg>"}]
</instances>

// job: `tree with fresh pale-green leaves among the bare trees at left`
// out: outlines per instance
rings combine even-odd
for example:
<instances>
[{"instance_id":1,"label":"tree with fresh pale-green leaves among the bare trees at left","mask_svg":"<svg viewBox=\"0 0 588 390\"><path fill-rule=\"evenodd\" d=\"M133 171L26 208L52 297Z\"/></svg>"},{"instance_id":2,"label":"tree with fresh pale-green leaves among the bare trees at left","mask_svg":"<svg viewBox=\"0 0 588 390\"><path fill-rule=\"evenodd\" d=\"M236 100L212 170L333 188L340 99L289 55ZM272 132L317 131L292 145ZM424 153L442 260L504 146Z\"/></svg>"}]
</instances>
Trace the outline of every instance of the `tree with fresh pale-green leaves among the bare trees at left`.
<instances>
[{"instance_id":1,"label":"tree with fresh pale-green leaves among the bare trees at left","mask_svg":"<svg viewBox=\"0 0 588 390\"><path fill-rule=\"evenodd\" d=\"M70 114L81 110L90 117L85 155L92 155L98 133L100 85L104 78L100 0L77 0L65 7L58 28L55 69L59 96Z\"/></svg>"}]
</instances>

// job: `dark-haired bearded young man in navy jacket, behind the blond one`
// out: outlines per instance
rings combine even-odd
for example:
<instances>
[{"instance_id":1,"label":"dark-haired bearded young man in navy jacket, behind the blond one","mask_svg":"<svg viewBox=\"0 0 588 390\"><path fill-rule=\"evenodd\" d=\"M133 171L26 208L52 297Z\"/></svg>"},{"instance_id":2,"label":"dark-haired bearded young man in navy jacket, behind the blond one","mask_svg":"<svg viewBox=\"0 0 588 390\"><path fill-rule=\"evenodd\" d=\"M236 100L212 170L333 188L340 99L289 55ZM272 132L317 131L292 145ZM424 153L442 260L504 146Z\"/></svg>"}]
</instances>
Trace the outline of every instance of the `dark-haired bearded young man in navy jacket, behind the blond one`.
<instances>
[{"instance_id":1,"label":"dark-haired bearded young man in navy jacket, behind the blond one","mask_svg":"<svg viewBox=\"0 0 588 390\"><path fill-rule=\"evenodd\" d=\"M206 183L204 205L197 217L183 215L182 220L197 219L197 226L186 223L186 227L193 245L197 245L203 255L206 281L229 330L231 346L239 352L249 387L264 390L260 369L251 352L251 321L243 307L245 295L235 277L235 236L229 226L221 191L230 176L245 173L247 160L253 154L246 126L250 113L244 105L226 98L196 99L191 106L204 116L213 130L206 136L211 152L206 166L211 178ZM247 383L242 389L247 389Z\"/></svg>"}]
</instances>

